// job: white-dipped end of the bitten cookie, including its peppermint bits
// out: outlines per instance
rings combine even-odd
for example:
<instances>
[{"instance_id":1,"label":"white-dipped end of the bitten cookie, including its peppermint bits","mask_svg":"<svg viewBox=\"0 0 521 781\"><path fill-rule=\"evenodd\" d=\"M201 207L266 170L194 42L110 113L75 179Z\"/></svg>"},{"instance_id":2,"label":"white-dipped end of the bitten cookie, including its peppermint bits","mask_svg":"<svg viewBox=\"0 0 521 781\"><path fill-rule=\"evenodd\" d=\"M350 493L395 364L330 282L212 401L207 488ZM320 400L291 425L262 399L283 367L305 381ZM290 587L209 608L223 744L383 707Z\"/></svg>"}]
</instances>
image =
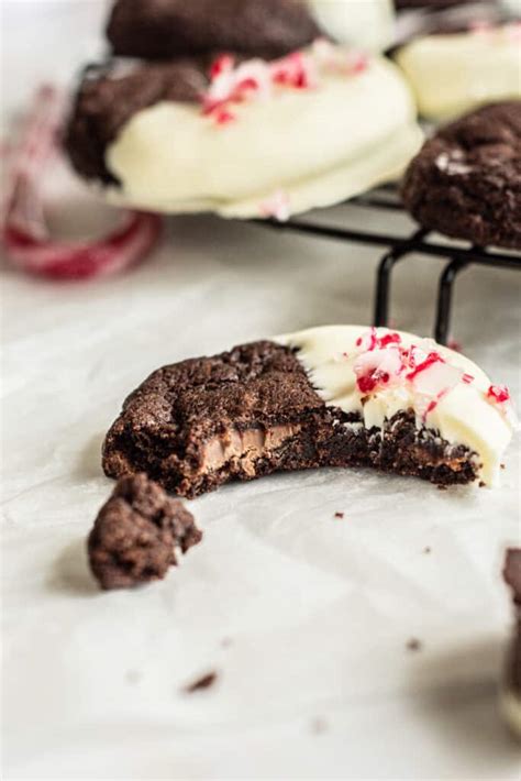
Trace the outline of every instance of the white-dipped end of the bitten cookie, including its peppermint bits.
<instances>
[{"instance_id":1,"label":"white-dipped end of the bitten cookie, including its peppermint bits","mask_svg":"<svg viewBox=\"0 0 521 781\"><path fill-rule=\"evenodd\" d=\"M386 328L331 326L277 339L297 358L324 402L385 429L412 410L417 427L475 453L479 481L494 484L517 420L510 394L459 353Z\"/></svg>"}]
</instances>

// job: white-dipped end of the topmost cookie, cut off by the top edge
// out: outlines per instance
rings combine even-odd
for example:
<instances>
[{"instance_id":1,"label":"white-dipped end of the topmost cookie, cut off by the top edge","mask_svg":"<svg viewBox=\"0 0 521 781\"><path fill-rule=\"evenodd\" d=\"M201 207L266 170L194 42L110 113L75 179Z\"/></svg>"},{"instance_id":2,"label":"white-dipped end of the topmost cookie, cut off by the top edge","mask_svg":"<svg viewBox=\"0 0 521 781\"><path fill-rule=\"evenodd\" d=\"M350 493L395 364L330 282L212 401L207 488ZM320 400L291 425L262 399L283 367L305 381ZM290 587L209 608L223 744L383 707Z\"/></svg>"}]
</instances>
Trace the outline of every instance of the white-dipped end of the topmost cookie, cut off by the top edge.
<instances>
[{"instance_id":1,"label":"white-dipped end of the topmost cookie, cut off by the top edge","mask_svg":"<svg viewBox=\"0 0 521 781\"><path fill-rule=\"evenodd\" d=\"M307 0L320 26L334 41L381 52L393 37L391 0Z\"/></svg>"}]
</instances>

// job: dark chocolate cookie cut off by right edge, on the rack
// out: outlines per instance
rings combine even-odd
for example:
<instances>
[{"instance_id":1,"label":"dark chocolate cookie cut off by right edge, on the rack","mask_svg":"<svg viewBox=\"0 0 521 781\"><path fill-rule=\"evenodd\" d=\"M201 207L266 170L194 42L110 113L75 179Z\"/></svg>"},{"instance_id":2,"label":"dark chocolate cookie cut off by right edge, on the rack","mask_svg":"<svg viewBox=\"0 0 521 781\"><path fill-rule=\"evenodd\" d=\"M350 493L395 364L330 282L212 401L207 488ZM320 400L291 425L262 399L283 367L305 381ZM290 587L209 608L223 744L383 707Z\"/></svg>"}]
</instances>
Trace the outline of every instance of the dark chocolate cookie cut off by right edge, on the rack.
<instances>
[{"instance_id":1,"label":"dark chocolate cookie cut off by right edge, on the rack","mask_svg":"<svg viewBox=\"0 0 521 781\"><path fill-rule=\"evenodd\" d=\"M402 196L424 228L521 249L521 101L486 106L440 130L411 162Z\"/></svg>"}]
</instances>

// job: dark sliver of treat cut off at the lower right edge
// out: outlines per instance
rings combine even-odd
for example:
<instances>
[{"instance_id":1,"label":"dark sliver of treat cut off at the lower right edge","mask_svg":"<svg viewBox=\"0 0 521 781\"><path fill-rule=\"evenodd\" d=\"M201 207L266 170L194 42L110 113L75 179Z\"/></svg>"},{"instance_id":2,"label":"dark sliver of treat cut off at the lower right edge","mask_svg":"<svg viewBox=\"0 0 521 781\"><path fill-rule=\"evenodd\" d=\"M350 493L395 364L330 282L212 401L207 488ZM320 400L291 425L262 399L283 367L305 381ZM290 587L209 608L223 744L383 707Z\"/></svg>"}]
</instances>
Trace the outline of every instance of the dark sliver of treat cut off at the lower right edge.
<instances>
[{"instance_id":1,"label":"dark sliver of treat cut off at the lower right edge","mask_svg":"<svg viewBox=\"0 0 521 781\"><path fill-rule=\"evenodd\" d=\"M521 548L507 551L503 578L512 592L514 625L507 656L501 708L509 726L521 739Z\"/></svg>"}]
</instances>

